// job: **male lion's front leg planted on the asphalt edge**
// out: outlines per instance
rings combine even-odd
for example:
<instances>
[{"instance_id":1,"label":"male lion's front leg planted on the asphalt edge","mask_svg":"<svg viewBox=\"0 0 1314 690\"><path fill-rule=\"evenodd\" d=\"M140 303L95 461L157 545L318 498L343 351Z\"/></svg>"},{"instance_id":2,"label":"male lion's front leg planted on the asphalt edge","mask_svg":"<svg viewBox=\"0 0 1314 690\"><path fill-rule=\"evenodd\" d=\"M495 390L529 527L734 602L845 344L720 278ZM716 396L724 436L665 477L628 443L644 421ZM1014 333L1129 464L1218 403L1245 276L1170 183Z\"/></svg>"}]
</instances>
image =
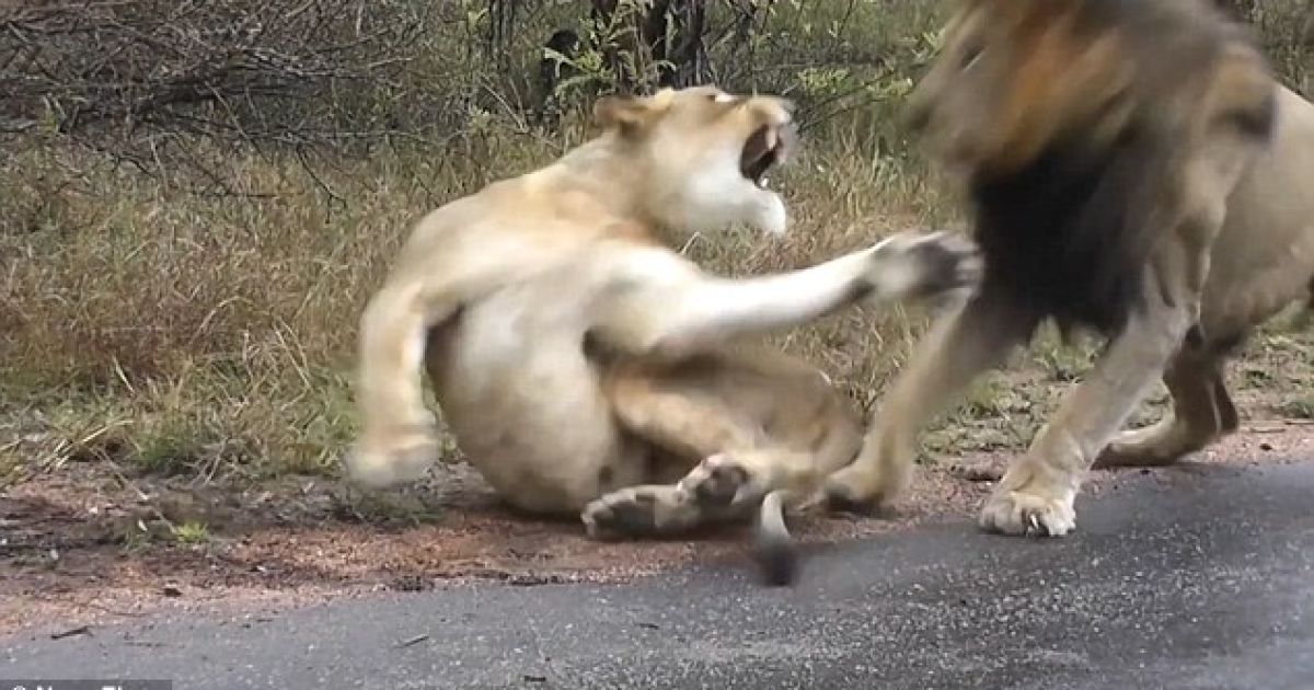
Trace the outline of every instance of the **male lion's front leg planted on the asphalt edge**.
<instances>
[{"instance_id":1,"label":"male lion's front leg planted on the asphalt edge","mask_svg":"<svg viewBox=\"0 0 1314 690\"><path fill-rule=\"evenodd\" d=\"M1008 468L980 513L983 528L1063 536L1085 472L1159 379L1193 310L1159 305L1134 313L1091 375L1068 392L1026 453Z\"/></svg>"}]
</instances>

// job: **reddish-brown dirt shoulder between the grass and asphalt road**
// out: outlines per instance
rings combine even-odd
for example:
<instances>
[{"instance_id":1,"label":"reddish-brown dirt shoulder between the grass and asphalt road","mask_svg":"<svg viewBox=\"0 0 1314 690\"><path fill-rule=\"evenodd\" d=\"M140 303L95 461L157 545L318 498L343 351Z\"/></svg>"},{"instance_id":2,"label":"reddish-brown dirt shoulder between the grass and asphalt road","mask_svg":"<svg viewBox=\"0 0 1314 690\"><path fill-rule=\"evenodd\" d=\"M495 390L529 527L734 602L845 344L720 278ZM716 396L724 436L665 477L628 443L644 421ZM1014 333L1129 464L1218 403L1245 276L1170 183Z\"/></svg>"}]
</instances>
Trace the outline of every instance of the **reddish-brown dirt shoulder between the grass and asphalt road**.
<instances>
[{"instance_id":1,"label":"reddish-brown dirt shoulder between the grass and asphalt road","mask_svg":"<svg viewBox=\"0 0 1314 690\"><path fill-rule=\"evenodd\" d=\"M1172 469L1314 456L1314 426L1252 423ZM1007 453L924 468L896 511L809 515L807 543L829 543L926 519L967 518ZM972 468L963 473L962 467ZM1123 471L1146 472L1146 471ZM1122 472L1096 472L1088 494ZM987 481L982 481L987 480ZM691 561L749 568L742 528L689 540L598 543L577 523L544 523L502 507L465 465L388 499L352 495L322 478L196 488L127 478L70 463L0 498L0 635L80 632L160 612L261 615L281 607L382 590L423 590L491 578L520 585L623 581Z\"/></svg>"}]
</instances>

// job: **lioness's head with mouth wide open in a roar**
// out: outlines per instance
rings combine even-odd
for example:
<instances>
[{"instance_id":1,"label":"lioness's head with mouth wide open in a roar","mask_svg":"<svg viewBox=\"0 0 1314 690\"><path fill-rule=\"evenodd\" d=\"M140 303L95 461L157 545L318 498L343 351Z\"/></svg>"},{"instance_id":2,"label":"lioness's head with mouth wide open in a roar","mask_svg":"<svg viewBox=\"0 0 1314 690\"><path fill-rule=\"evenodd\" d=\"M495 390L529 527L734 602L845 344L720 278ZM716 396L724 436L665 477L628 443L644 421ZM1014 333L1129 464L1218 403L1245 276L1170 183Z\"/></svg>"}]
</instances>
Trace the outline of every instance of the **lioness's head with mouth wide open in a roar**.
<instances>
[{"instance_id":1,"label":"lioness's head with mouth wide open in a roar","mask_svg":"<svg viewBox=\"0 0 1314 690\"><path fill-rule=\"evenodd\" d=\"M784 202L771 168L795 146L791 104L712 85L608 96L594 106L604 137L643 167L648 212L679 230L742 222L779 235Z\"/></svg>"}]
</instances>

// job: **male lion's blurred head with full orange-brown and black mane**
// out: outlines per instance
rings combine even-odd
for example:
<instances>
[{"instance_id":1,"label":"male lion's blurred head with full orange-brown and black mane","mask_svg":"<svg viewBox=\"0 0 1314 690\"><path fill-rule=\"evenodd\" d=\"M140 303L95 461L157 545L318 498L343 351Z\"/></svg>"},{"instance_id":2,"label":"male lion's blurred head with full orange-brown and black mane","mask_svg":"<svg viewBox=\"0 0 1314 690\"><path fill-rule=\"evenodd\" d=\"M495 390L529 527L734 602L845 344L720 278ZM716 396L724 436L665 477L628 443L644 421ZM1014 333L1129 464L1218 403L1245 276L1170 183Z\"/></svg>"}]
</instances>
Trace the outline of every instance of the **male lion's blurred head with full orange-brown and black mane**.
<instances>
[{"instance_id":1,"label":"male lion's blurred head with full orange-brown and black mane","mask_svg":"<svg viewBox=\"0 0 1314 690\"><path fill-rule=\"evenodd\" d=\"M907 117L970 192L982 294L1118 330L1188 162L1271 131L1267 63L1208 0L961 0L945 38Z\"/></svg>"}]
</instances>

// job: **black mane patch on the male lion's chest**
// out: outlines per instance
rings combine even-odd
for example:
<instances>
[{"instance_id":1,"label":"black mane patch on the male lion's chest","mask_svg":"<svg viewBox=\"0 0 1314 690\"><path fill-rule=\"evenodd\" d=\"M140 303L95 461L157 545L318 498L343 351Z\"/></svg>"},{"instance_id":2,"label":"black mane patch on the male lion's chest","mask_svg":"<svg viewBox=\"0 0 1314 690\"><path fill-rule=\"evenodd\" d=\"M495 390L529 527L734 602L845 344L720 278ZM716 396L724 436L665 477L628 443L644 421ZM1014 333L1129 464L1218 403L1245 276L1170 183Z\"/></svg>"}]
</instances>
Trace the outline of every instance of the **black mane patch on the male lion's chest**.
<instances>
[{"instance_id":1,"label":"black mane patch on the male lion's chest","mask_svg":"<svg viewBox=\"0 0 1314 690\"><path fill-rule=\"evenodd\" d=\"M1117 333L1141 305L1154 238L1158 150L1142 137L1085 152L1051 147L1025 170L972 185L975 238L986 256L983 294L1033 326ZM1164 171L1160 171L1160 173Z\"/></svg>"}]
</instances>

